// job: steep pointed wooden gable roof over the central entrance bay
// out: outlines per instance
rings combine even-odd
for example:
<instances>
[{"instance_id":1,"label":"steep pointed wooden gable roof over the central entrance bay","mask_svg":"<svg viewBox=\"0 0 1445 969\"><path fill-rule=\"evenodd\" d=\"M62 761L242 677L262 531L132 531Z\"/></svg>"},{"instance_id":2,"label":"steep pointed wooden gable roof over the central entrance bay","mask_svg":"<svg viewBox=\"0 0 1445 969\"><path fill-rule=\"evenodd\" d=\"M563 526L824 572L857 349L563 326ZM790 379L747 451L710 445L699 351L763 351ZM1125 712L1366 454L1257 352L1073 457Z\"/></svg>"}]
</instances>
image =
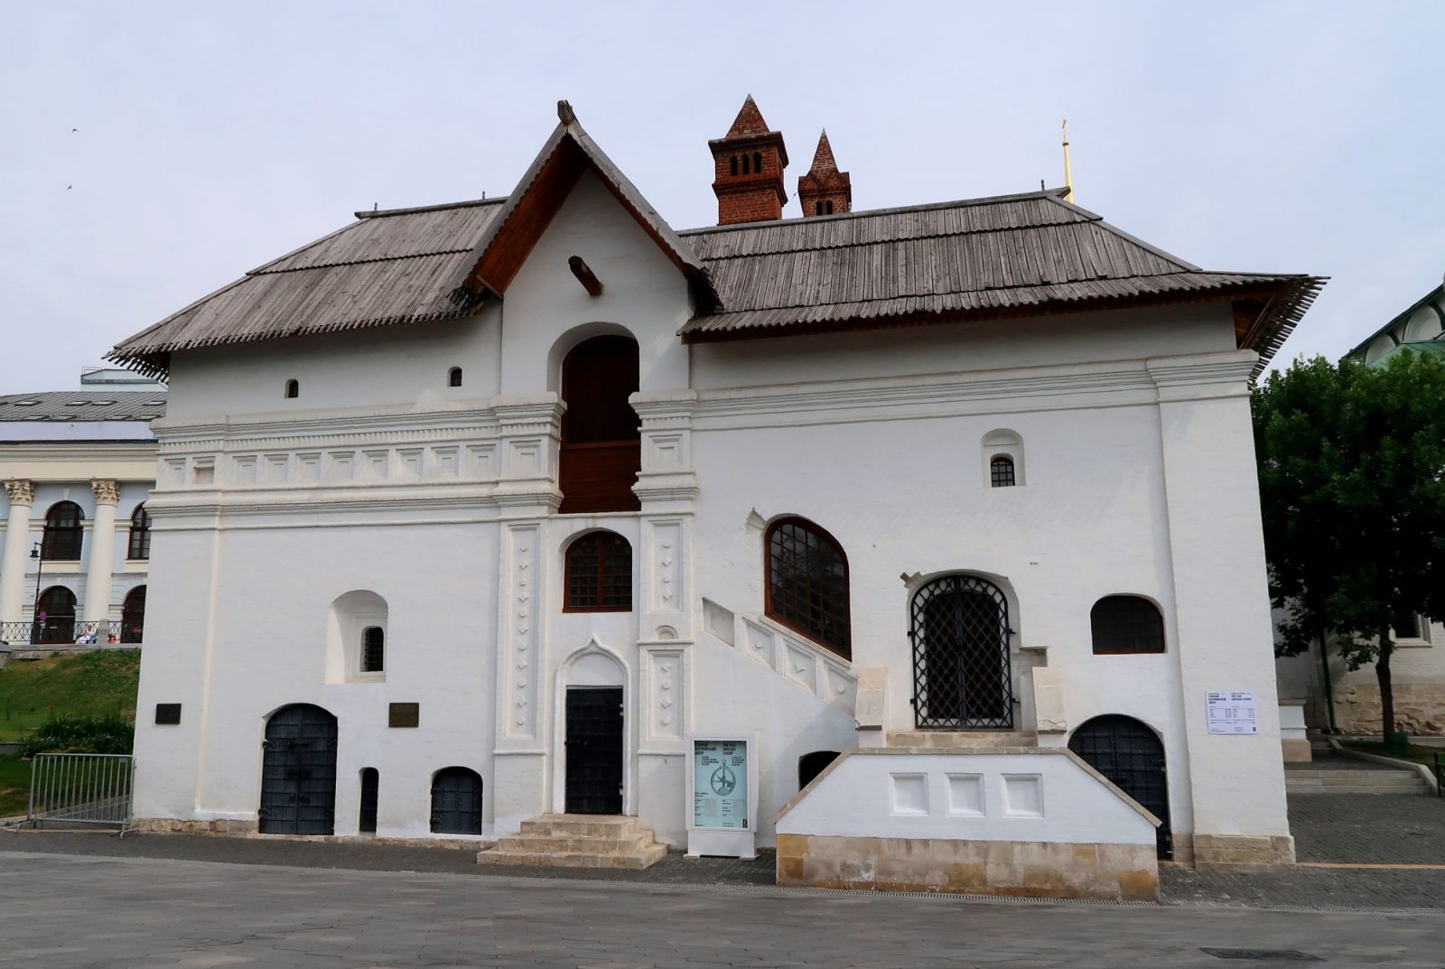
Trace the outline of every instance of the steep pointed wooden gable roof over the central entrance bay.
<instances>
[{"instance_id":1,"label":"steep pointed wooden gable roof over the central entrance bay","mask_svg":"<svg viewBox=\"0 0 1445 969\"><path fill-rule=\"evenodd\" d=\"M578 124L572 107L566 101L558 101L556 108L561 118L556 129L532 162L532 168L522 176L516 191L473 247L471 267L458 277L458 289L474 297L480 297L484 292L497 296L506 293L532 247L577 185L578 176L591 169L627 214L688 277L699 308L715 308L717 292L708 282L707 270L696 254L657 215L657 209L643 198L637 186L597 147Z\"/></svg>"}]
</instances>

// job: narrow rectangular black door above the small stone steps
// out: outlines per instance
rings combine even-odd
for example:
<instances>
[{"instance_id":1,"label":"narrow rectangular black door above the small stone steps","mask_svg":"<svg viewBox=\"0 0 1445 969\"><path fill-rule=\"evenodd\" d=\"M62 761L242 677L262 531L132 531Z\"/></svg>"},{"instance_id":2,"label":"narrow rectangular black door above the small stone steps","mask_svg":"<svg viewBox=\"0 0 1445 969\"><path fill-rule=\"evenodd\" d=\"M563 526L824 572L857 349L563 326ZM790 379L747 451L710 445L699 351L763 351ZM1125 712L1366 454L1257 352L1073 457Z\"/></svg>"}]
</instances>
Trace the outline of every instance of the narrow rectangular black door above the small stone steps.
<instances>
[{"instance_id":1,"label":"narrow rectangular black door above the small stone steps","mask_svg":"<svg viewBox=\"0 0 1445 969\"><path fill-rule=\"evenodd\" d=\"M623 813L623 687L566 692L566 812Z\"/></svg>"}]
</instances>

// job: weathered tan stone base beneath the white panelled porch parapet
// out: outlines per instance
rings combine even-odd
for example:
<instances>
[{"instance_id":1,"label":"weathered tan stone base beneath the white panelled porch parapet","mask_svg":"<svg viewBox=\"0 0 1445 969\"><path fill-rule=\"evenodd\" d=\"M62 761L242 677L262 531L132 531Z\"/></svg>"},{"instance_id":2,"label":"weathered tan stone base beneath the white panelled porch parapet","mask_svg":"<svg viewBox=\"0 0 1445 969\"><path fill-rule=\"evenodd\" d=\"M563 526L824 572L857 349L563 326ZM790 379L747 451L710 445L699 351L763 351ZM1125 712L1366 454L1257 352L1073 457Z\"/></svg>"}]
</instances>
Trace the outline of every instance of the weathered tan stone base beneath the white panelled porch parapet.
<instances>
[{"instance_id":1,"label":"weathered tan stone base beneath the white panelled porch parapet","mask_svg":"<svg viewBox=\"0 0 1445 969\"><path fill-rule=\"evenodd\" d=\"M777 884L1157 901L1153 845L777 836Z\"/></svg>"}]
</instances>

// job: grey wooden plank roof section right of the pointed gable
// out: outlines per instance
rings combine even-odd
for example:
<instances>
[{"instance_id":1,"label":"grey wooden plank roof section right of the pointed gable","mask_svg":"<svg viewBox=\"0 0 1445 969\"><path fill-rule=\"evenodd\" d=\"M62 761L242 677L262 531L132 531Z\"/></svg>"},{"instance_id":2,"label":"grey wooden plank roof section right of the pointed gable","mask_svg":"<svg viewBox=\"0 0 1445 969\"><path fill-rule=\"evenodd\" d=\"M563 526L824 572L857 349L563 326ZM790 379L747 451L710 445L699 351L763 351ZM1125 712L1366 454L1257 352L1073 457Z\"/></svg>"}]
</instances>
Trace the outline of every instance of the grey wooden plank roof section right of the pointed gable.
<instances>
[{"instance_id":1,"label":"grey wooden plank roof section right of the pointed gable","mask_svg":"<svg viewBox=\"0 0 1445 969\"><path fill-rule=\"evenodd\" d=\"M1253 300L1241 347L1263 360L1322 279L1212 273L1064 201L1066 189L683 233L724 309L686 342L1185 300Z\"/></svg>"}]
</instances>

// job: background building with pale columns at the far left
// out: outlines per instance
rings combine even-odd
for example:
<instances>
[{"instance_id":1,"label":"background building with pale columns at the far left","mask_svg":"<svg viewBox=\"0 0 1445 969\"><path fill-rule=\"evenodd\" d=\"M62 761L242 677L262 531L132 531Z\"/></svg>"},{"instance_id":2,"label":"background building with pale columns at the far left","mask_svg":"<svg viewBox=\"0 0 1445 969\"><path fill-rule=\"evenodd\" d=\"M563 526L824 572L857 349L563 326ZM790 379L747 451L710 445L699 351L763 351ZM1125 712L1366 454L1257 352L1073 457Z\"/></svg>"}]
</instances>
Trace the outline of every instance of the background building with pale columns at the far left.
<instances>
[{"instance_id":1,"label":"background building with pale columns at the far left","mask_svg":"<svg viewBox=\"0 0 1445 969\"><path fill-rule=\"evenodd\" d=\"M91 368L0 396L0 648L142 641L165 387Z\"/></svg>"}]
</instances>

